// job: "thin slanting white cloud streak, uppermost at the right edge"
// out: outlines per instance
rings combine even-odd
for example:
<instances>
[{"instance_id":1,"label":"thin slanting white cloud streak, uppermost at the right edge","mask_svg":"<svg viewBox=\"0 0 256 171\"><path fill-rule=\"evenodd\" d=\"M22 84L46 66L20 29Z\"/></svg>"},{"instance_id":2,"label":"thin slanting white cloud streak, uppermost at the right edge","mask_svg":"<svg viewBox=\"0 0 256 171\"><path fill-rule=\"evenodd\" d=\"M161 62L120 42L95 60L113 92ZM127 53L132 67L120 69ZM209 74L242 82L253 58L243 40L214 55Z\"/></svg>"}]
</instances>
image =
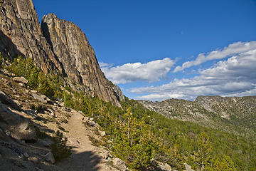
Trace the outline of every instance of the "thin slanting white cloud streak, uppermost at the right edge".
<instances>
[{"instance_id":1,"label":"thin slanting white cloud streak, uppermost at the right edge","mask_svg":"<svg viewBox=\"0 0 256 171\"><path fill-rule=\"evenodd\" d=\"M174 73L178 71L183 71L185 68L190 68L191 66L198 66L206 61L212 61L216 59L227 58L228 56L234 56L235 54L250 51L256 48L256 41L250 42L236 42L230 44L228 47L223 48L223 50L216 50L210 53L200 53L195 61L187 61L182 64L182 66L176 66Z\"/></svg>"}]
</instances>

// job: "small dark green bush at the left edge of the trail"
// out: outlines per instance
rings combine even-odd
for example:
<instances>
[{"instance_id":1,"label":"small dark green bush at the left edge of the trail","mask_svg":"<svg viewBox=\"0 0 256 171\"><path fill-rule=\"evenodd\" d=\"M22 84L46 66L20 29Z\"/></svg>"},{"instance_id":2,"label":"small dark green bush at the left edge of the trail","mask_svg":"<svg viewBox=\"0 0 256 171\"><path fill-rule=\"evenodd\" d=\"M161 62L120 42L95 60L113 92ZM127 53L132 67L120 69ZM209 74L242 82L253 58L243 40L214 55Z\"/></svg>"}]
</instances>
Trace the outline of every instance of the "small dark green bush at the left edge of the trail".
<instances>
[{"instance_id":1,"label":"small dark green bush at the left edge of the trail","mask_svg":"<svg viewBox=\"0 0 256 171\"><path fill-rule=\"evenodd\" d=\"M71 148L67 144L68 138L63 138L63 133L57 130L57 133L53 136L53 145L51 150L56 161L63 160L65 157L71 155Z\"/></svg>"}]
</instances>

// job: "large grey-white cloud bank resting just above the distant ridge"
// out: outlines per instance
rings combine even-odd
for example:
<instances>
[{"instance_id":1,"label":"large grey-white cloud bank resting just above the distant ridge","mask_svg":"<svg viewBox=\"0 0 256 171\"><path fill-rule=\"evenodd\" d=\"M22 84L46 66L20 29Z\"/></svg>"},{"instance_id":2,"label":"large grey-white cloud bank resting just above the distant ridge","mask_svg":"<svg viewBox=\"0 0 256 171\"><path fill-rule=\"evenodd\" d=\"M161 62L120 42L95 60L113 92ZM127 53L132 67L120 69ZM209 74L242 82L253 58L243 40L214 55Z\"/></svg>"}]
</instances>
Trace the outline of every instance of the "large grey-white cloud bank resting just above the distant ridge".
<instances>
[{"instance_id":1,"label":"large grey-white cloud bank resting just above the distant ridge","mask_svg":"<svg viewBox=\"0 0 256 171\"><path fill-rule=\"evenodd\" d=\"M162 86L133 88L130 92L147 93L137 97L144 100L194 100L198 95L256 95L256 48L219 61L199 74L190 79L175 79Z\"/></svg>"}]
</instances>

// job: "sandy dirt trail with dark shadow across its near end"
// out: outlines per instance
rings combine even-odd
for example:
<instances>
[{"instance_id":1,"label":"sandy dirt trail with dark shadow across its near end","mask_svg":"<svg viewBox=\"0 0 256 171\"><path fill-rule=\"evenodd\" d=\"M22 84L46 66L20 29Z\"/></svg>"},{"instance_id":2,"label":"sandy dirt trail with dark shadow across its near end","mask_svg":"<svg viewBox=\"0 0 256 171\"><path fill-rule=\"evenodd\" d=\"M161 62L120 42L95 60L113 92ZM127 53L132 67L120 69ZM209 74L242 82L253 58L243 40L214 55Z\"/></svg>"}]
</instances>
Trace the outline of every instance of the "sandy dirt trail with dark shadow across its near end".
<instances>
[{"instance_id":1,"label":"sandy dirt trail with dark shadow across its near end","mask_svg":"<svg viewBox=\"0 0 256 171\"><path fill-rule=\"evenodd\" d=\"M65 134L68 137L68 145L73 147L72 155L61 162L56 163L63 170L86 170L86 171L107 171L116 170L107 163L104 159L97 155L95 146L91 145L88 138L89 130L82 124L82 115L75 110L72 110L72 115L65 130L69 133Z\"/></svg>"}]
</instances>

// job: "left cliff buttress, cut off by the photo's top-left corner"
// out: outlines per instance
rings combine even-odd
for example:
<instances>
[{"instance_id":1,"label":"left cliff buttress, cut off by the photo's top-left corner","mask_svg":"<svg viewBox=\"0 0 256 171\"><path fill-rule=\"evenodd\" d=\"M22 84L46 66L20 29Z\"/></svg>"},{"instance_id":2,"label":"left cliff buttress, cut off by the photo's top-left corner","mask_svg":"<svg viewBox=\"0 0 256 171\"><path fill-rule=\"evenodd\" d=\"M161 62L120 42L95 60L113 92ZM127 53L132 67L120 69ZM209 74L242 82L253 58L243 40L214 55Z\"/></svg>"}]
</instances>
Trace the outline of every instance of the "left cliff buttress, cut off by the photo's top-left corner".
<instances>
[{"instance_id":1,"label":"left cliff buttress, cut off by the photo's top-left corner","mask_svg":"<svg viewBox=\"0 0 256 171\"><path fill-rule=\"evenodd\" d=\"M11 60L18 55L32 58L44 73L61 71L31 0L9 0L0 6L0 51Z\"/></svg>"}]
</instances>

